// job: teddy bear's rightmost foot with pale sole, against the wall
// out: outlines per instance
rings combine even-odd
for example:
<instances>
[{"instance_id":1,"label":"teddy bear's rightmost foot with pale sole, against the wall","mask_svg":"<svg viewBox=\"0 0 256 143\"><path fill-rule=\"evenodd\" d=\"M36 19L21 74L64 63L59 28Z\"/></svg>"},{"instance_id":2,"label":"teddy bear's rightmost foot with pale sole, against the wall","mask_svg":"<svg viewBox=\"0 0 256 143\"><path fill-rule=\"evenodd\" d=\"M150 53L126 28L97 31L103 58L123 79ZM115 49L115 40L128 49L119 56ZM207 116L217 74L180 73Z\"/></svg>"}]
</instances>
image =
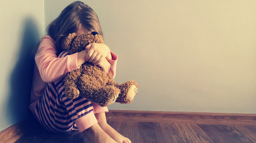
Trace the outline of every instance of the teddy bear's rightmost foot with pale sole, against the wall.
<instances>
[{"instance_id":1,"label":"teddy bear's rightmost foot with pale sole, against the wall","mask_svg":"<svg viewBox=\"0 0 256 143\"><path fill-rule=\"evenodd\" d=\"M116 102L127 104L133 102L135 95L138 93L139 87L137 82L130 80L119 85L119 89L121 90L121 93L119 94Z\"/></svg>"}]
</instances>

